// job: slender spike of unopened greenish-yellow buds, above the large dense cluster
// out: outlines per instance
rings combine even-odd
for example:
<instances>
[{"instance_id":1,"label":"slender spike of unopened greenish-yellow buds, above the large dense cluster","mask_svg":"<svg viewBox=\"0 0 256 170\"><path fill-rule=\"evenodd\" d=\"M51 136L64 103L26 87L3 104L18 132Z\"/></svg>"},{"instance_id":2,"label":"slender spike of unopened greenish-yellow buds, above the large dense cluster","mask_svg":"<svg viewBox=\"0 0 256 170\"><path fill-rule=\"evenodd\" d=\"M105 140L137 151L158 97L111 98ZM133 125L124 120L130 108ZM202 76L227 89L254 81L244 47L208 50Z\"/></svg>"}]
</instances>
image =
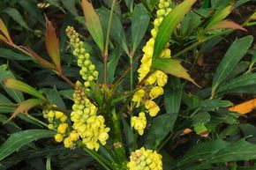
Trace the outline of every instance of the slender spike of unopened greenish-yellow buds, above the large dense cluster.
<instances>
[{"instance_id":1,"label":"slender spike of unopened greenish-yellow buds, above the large dense cluster","mask_svg":"<svg viewBox=\"0 0 256 170\"><path fill-rule=\"evenodd\" d=\"M78 65L81 68L79 74L85 80L85 86L89 87L95 79L98 78L99 72L95 70L95 65L90 60L90 55L84 48L84 42L80 41L79 33L77 33L72 26L67 26L65 30L67 36L70 38L70 43L73 49L73 55L78 57Z\"/></svg>"}]
</instances>

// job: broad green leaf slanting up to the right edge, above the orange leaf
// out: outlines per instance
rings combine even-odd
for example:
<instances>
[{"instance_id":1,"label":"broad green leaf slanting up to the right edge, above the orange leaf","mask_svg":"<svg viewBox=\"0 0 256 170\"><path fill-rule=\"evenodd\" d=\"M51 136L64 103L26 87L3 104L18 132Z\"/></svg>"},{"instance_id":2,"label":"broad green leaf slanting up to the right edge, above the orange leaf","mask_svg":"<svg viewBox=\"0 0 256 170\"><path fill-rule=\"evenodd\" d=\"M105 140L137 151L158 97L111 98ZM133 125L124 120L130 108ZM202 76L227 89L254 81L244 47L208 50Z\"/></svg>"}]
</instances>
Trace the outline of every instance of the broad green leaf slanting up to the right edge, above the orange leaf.
<instances>
[{"instance_id":1,"label":"broad green leaf slanting up to the right edge, above the orange leaf","mask_svg":"<svg viewBox=\"0 0 256 170\"><path fill-rule=\"evenodd\" d=\"M219 85L229 77L230 72L234 70L237 66L237 63L242 59L246 54L248 48L250 48L253 41L251 35L237 39L230 46L226 54L224 55L221 63L216 69L213 85L212 85L212 96L215 95L215 92Z\"/></svg>"}]
</instances>

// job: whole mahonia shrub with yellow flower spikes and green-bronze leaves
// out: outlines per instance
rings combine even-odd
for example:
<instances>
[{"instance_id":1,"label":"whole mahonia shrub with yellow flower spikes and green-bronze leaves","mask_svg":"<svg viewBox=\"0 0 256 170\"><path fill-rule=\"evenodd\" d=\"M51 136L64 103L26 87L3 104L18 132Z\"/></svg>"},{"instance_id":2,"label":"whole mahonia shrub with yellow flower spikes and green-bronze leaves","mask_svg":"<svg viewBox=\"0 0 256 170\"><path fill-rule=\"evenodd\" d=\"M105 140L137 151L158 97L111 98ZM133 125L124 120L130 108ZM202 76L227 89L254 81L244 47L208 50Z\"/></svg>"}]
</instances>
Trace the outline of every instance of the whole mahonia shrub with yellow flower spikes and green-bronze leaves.
<instances>
[{"instance_id":1,"label":"whole mahonia shrub with yellow flower spikes and green-bronze leaves","mask_svg":"<svg viewBox=\"0 0 256 170\"><path fill-rule=\"evenodd\" d=\"M0 161L8 162L11 153L45 137L55 140L47 144L54 143L57 149L64 145L64 152L75 153L68 161L74 164L61 166L63 169L74 165L87 168L76 162L81 162L77 158L84 161L84 152L89 155L86 157L91 167L106 170L196 170L223 166L237 169L236 161L256 159L255 142L245 135L252 125L240 126L238 119L252 111L254 100L241 106L225 100L227 94L255 92L256 53L250 64L240 62L246 53L252 55L249 48L253 37L236 39L230 45L217 67L212 86L200 89L200 82L190 75L198 58L210 48L234 30L245 31L256 25L255 13L242 26L226 19L244 1L216 2L205 0L198 4L200 7L193 7L196 0L140 4L113 0L95 10L94 1L81 0L84 17L77 16L76 20L83 25L65 23L61 41L46 18L45 45L51 62L31 48L16 45L0 19L0 40L50 70L49 77L56 82L50 91L36 90L16 79L6 65L0 66L4 92L18 102L12 103L0 93L0 101L4 100L0 109L11 107L13 111L9 120L4 116L3 120L13 122L15 116L25 113L24 120L47 128L11 135L0 146ZM121 11L122 3L127 5L128 12ZM131 40L127 41L128 37ZM186 70L182 61L190 60L192 65ZM246 69L237 71L243 64ZM77 74L72 76L73 72ZM49 82L49 86L55 85ZM43 85L48 87L38 87ZM68 88L60 88L61 85ZM192 85L198 86L199 92L190 92ZM27 96L34 98L26 99ZM33 116L28 113L30 110L42 116ZM48 156L49 170L51 154L57 153L40 154Z\"/></svg>"}]
</instances>

